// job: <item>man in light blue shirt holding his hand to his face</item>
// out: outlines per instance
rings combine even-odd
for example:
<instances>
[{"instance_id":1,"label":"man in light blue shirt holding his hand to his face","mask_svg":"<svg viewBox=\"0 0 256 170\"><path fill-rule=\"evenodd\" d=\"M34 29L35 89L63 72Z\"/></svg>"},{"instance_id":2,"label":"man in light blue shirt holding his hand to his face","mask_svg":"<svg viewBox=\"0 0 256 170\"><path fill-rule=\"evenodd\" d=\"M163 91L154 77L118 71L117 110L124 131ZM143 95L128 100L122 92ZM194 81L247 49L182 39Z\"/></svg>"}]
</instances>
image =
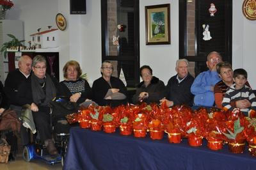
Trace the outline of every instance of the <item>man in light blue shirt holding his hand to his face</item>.
<instances>
[{"instance_id":1,"label":"man in light blue shirt holding his hand to his face","mask_svg":"<svg viewBox=\"0 0 256 170\"><path fill-rule=\"evenodd\" d=\"M200 73L191 86L191 93L195 95L195 106L212 107L214 104L214 85L221 80L216 72L216 65L221 61L218 52L213 51L208 54L206 65L209 70Z\"/></svg>"}]
</instances>

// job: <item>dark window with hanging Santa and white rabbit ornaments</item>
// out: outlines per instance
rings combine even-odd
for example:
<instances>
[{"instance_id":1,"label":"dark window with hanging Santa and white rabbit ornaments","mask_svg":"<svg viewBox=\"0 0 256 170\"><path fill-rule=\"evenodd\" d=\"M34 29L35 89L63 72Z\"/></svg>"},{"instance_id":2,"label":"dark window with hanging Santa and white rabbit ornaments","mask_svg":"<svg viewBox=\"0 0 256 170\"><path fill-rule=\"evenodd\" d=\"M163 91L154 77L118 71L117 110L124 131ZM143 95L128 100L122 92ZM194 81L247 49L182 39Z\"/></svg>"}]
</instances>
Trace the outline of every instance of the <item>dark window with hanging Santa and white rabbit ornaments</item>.
<instances>
[{"instance_id":1,"label":"dark window with hanging Santa and white rabbit ornaments","mask_svg":"<svg viewBox=\"0 0 256 170\"><path fill-rule=\"evenodd\" d=\"M209 8L214 3L217 12L211 17ZM204 29L209 26L211 40L204 40ZM207 54L220 52L223 61L232 63L232 1L179 1L179 56L189 62L192 75L207 70Z\"/></svg>"}]
</instances>

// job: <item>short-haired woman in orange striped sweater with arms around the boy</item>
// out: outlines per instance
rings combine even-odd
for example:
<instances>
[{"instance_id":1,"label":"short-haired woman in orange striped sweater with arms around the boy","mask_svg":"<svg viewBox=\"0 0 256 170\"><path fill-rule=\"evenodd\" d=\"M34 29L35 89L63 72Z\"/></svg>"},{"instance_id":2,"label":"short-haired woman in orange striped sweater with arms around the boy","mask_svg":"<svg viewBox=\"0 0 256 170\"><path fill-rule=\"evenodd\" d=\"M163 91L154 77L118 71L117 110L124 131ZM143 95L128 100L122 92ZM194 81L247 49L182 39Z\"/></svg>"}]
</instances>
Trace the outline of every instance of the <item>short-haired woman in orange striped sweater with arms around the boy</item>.
<instances>
[{"instance_id":1,"label":"short-haired woman in orange striped sweater with arms around the boy","mask_svg":"<svg viewBox=\"0 0 256 170\"><path fill-rule=\"evenodd\" d=\"M216 65L217 72L219 73L219 76L221 78L221 81L217 82L214 86L214 97L215 97L215 104L216 107L219 109L222 109L222 100L225 96L225 93L228 89L228 87L232 86L234 84L233 81L233 70L228 62L221 62ZM250 84L248 81L246 82L246 86L250 87ZM236 102L231 102L231 105L240 109L246 109L251 106L251 103L249 100L237 100Z\"/></svg>"}]
</instances>

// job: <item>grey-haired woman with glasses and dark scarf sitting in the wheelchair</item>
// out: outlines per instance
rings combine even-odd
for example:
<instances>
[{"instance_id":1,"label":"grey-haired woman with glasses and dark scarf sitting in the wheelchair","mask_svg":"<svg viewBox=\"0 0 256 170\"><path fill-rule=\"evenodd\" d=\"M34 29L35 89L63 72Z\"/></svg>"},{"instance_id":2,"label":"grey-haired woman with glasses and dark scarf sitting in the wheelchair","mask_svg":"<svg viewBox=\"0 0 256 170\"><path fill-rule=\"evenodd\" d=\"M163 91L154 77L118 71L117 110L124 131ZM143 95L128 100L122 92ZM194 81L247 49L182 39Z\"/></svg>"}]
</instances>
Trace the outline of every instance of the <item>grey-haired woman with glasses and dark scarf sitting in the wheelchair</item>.
<instances>
[{"instance_id":1,"label":"grey-haired woman with glasses and dark scarf sitting in the wheelchair","mask_svg":"<svg viewBox=\"0 0 256 170\"><path fill-rule=\"evenodd\" d=\"M31 76L24 81L17 94L20 105L29 104L33 114L40 140L44 142L51 155L58 154L52 140L52 127L50 125L49 103L56 97L60 86L58 81L46 73L46 60L44 56L33 58Z\"/></svg>"}]
</instances>

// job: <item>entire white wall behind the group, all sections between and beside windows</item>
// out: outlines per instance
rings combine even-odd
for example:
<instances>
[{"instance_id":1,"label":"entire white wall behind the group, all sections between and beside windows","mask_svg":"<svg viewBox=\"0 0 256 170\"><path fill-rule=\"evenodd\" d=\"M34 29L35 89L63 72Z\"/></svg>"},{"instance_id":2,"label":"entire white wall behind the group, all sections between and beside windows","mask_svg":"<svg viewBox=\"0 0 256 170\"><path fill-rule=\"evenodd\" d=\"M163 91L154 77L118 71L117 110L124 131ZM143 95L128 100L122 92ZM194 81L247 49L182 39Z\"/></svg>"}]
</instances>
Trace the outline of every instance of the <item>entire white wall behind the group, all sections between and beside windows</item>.
<instances>
[{"instance_id":1,"label":"entire white wall behind the group, all sections between and beside windows","mask_svg":"<svg viewBox=\"0 0 256 170\"><path fill-rule=\"evenodd\" d=\"M13 0L15 6L9 10L6 19L24 21L24 35L36 32L38 27L54 26L55 16L62 13L67 19L67 29L60 31L60 73L62 66L75 59L88 74L90 84L100 77L101 27L100 0L86 0L86 15L70 15L69 0ZM170 45L145 45L145 6L170 3ZM247 20L242 13L243 0L233 0L233 50L234 68L245 68L248 81L256 89L255 44L256 21ZM140 65L152 66L153 73L167 83L175 74L175 61L179 58L179 1L140 0ZM61 77L61 76L60 76Z\"/></svg>"}]
</instances>

